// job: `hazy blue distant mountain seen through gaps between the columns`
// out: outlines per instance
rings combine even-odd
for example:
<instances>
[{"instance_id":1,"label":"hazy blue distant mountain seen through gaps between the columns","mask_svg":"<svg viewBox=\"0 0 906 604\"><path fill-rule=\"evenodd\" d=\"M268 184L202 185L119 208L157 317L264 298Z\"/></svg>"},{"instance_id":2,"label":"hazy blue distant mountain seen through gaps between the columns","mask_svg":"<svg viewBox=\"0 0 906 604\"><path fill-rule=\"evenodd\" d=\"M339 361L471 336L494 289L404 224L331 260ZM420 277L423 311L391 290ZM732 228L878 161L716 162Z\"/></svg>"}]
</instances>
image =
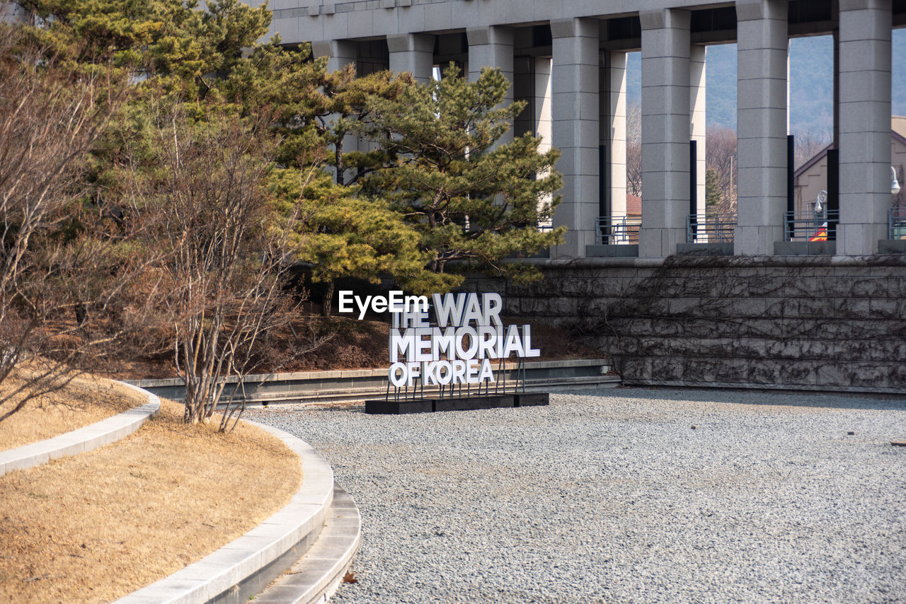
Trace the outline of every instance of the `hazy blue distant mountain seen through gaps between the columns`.
<instances>
[{"instance_id":1,"label":"hazy blue distant mountain seen through gaps between the columns","mask_svg":"<svg viewBox=\"0 0 906 604\"><path fill-rule=\"evenodd\" d=\"M892 114L906 115L906 30L893 30ZM708 126L736 129L736 44L708 46ZM630 102L641 99L641 53L631 53L626 74ZM834 45L830 35L790 43L790 129L817 136L834 127Z\"/></svg>"}]
</instances>

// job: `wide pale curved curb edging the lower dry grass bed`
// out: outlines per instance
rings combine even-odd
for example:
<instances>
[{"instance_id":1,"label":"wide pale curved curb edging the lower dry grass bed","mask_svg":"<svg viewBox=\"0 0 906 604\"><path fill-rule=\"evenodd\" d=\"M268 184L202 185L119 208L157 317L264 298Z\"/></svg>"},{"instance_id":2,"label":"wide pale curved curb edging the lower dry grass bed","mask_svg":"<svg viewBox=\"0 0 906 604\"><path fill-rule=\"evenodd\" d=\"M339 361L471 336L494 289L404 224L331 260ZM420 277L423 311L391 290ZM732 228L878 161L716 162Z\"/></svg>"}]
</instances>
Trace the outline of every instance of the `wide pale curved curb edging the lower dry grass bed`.
<instances>
[{"instance_id":1,"label":"wide pale curved curb edging the lower dry grass bed","mask_svg":"<svg viewBox=\"0 0 906 604\"><path fill-rule=\"evenodd\" d=\"M116 600L118 604L243 602L311 548L333 503L333 470L303 440L262 424L302 460L302 485L264 523L205 558Z\"/></svg>"}]
</instances>

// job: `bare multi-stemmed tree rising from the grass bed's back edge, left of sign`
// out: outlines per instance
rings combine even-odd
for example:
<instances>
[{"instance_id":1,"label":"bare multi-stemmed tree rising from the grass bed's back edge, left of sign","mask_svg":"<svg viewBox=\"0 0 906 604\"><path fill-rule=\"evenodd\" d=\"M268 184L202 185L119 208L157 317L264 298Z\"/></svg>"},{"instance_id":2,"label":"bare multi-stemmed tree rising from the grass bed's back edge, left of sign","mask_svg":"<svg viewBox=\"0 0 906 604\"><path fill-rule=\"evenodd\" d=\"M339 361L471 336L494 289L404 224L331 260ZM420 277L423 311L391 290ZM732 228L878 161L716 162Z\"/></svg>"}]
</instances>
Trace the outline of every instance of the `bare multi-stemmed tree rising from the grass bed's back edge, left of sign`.
<instances>
[{"instance_id":1,"label":"bare multi-stemmed tree rising from the grass bed's back edge, left of sign","mask_svg":"<svg viewBox=\"0 0 906 604\"><path fill-rule=\"evenodd\" d=\"M169 252L160 306L175 329L185 419L207 422L223 405L226 431L245 408L242 393L225 395L226 377L241 384L255 345L296 316L284 292L283 235L265 192L276 143L264 118L193 124L178 107L160 114L157 139L163 175L148 195L163 217L152 243Z\"/></svg>"}]
</instances>

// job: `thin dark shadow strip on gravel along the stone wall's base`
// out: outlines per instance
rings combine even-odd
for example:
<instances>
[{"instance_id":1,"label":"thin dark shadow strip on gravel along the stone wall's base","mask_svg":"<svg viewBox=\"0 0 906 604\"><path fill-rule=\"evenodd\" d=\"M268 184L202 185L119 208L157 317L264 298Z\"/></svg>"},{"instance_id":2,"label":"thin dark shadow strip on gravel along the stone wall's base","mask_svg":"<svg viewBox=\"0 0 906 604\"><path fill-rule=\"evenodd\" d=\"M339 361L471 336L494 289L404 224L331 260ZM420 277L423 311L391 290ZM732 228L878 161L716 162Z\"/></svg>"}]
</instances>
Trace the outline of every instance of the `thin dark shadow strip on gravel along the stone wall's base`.
<instances>
[{"instance_id":1,"label":"thin dark shadow strip on gravel along the stone wall's base","mask_svg":"<svg viewBox=\"0 0 906 604\"><path fill-rule=\"evenodd\" d=\"M582 394L577 391L556 391L552 394ZM588 390L585 394L602 397L639 398L641 400L676 400L744 405L786 407L826 407L834 409L873 409L906 411L906 395L853 394L830 392L801 392L757 390L749 388L668 388L651 386L621 386L607 390ZM742 396L739 396L742 395ZM761 399L757 399L760 397Z\"/></svg>"}]
</instances>

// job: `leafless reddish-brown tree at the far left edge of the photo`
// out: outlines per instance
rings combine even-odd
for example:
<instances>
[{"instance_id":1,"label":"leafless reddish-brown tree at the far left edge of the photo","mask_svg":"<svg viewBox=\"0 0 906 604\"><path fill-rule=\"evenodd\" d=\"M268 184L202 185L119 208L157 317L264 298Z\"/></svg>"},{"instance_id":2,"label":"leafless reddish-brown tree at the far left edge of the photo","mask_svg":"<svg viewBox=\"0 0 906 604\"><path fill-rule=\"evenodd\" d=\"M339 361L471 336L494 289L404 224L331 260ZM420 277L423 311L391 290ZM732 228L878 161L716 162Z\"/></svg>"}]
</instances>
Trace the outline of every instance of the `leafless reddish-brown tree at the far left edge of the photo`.
<instances>
[{"instance_id":1,"label":"leafless reddish-brown tree at the far left edge of the photo","mask_svg":"<svg viewBox=\"0 0 906 604\"><path fill-rule=\"evenodd\" d=\"M0 24L0 383L17 374L0 396L0 421L62 388L115 338L111 323L92 333L80 288L92 284L105 314L130 273L111 261L115 245L76 220L75 203L85 159L126 87L110 69L69 72L17 35Z\"/></svg>"}]
</instances>

